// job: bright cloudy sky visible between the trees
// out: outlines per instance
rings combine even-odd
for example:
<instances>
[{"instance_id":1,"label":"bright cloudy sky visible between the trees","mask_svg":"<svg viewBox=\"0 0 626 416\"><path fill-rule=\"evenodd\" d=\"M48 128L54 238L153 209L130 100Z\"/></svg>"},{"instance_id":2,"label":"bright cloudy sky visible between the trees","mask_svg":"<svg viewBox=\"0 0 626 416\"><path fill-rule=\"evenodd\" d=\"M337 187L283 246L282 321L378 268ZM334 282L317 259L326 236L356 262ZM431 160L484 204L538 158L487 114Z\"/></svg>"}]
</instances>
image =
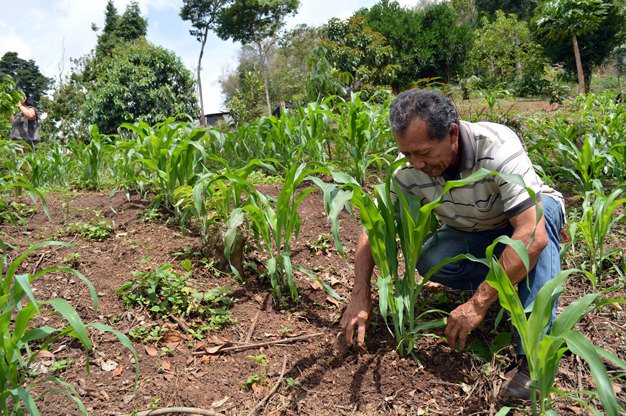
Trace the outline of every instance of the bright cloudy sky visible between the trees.
<instances>
[{"instance_id":1,"label":"bright cloudy sky visible between the trees","mask_svg":"<svg viewBox=\"0 0 626 416\"><path fill-rule=\"evenodd\" d=\"M114 0L118 13L124 12L129 1ZM91 25L103 26L106 3L107 0L0 0L0 57L6 52L17 52L22 59L34 60L44 75L58 82L70 74L71 58L80 58L95 48L97 33ZM195 75L200 42L189 34L191 24L178 15L182 0L138 3L148 19L148 40L174 52ZM300 0L298 13L286 20L286 26L320 26L331 17L347 18L376 3L378 0ZM419 0L399 3L413 7ZM205 113L224 110L218 79L236 67L240 49L239 43L210 34L202 59Z\"/></svg>"}]
</instances>

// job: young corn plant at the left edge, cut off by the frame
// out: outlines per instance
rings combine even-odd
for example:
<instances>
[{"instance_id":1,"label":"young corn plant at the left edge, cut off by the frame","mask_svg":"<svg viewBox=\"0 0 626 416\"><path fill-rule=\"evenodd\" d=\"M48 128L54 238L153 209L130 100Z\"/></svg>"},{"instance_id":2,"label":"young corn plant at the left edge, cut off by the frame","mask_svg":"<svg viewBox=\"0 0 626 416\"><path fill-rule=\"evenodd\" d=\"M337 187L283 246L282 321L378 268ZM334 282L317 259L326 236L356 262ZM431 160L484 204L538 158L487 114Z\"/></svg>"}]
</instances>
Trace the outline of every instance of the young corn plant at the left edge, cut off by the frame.
<instances>
[{"instance_id":1,"label":"young corn plant at the left edge, cut off by the frame","mask_svg":"<svg viewBox=\"0 0 626 416\"><path fill-rule=\"evenodd\" d=\"M60 242L43 242L31 246L15 260L9 262L7 246L0 240L3 254L0 257L0 414L22 415L25 412L39 415L36 398L50 392L62 393L71 399L81 414L87 409L74 387L55 375L30 381L31 365L40 350L49 349L56 340L70 336L91 352L93 346L88 329L114 334L135 358L135 385L139 376L139 360L129 339L119 331L100 323L84 324L76 310L65 300L54 298L40 301L35 297L31 284L39 277L51 272L72 273L89 288L94 309L97 310L97 295L93 285L80 272L67 267L49 267L35 273L19 273L22 262L36 250L47 246L68 246ZM34 319L53 310L67 326L54 328L48 325L33 327ZM87 366L89 370L89 366ZM33 396L35 386L51 383L53 387ZM38 389L41 391L40 389Z\"/></svg>"}]
</instances>

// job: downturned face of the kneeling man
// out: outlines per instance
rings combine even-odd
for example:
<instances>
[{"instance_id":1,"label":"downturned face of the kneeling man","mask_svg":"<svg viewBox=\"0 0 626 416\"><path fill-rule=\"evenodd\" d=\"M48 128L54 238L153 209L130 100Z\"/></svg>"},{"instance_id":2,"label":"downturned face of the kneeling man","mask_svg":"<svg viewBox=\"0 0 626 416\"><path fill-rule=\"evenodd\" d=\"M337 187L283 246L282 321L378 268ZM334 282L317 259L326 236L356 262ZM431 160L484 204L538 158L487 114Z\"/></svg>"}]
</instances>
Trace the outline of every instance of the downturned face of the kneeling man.
<instances>
[{"instance_id":1,"label":"downturned face of the kneeling man","mask_svg":"<svg viewBox=\"0 0 626 416\"><path fill-rule=\"evenodd\" d=\"M414 118L402 135L396 135L398 150L409 163L428 176L442 176L446 169L459 160L459 126L452 124L448 137L439 141L428 134L428 126L421 118Z\"/></svg>"}]
</instances>

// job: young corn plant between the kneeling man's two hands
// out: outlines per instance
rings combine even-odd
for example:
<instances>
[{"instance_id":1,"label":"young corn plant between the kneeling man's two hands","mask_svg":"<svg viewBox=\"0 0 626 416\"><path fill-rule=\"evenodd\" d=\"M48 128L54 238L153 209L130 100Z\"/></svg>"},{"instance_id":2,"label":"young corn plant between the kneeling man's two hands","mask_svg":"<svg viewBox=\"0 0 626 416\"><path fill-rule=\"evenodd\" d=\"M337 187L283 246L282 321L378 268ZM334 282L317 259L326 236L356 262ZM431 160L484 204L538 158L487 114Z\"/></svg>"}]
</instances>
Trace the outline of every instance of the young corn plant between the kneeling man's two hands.
<instances>
[{"instance_id":1,"label":"young corn plant between the kneeling man's two hands","mask_svg":"<svg viewBox=\"0 0 626 416\"><path fill-rule=\"evenodd\" d=\"M402 159L394 163L393 167L404 164L406 160ZM424 243L437 226L433 210L443 203L443 196L451 189L474 183L488 175L498 175L502 180L524 186L519 176L481 170L466 178L447 182L439 198L420 205L416 196L408 195L398 187L391 173L388 174L384 184L374 187L374 198L355 179L345 175L335 175L335 180L343 183L340 189L334 184L316 182L324 192L324 204L336 244L338 242L340 244L337 222L341 208L349 200L359 210L359 219L368 234L372 256L378 267L377 285L381 316L385 322L391 318L393 330L390 331L396 338L398 352L401 355L413 352L423 330L445 325L444 319L422 320L429 314L442 312L424 310L422 292L426 282L439 268L448 262L457 261L458 258L444 260L420 278L416 278L415 269ZM395 200L392 198L392 192L395 194ZM534 198L534 194L531 196ZM405 264L402 275L398 261L398 241Z\"/></svg>"}]
</instances>

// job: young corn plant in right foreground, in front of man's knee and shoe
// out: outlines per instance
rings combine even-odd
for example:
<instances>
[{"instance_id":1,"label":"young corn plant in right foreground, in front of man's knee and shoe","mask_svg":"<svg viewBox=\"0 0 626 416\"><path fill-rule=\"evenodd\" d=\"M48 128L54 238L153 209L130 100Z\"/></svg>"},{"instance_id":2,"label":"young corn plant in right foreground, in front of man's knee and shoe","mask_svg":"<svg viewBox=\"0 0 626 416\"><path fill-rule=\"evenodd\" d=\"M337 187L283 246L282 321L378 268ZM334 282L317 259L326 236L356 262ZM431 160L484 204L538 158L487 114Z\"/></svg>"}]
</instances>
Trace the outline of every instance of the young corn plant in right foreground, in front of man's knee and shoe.
<instances>
[{"instance_id":1,"label":"young corn plant in right foreground, in front of man's knee and shoe","mask_svg":"<svg viewBox=\"0 0 626 416\"><path fill-rule=\"evenodd\" d=\"M591 293L566 306L557 316L552 328L549 328L552 305L563 292L563 285L567 277L576 270L565 270L548 281L539 291L529 312L525 310L516 289L511 284L500 262L494 257L496 244L503 243L511 246L529 268L528 250L518 240L502 236L497 238L487 249L485 259L475 259L489 267L486 281L498 291L500 305L511 315L511 322L519 333L519 338L526 353L528 369L531 379L532 414L556 416L553 409L552 394L567 395L554 386L554 379L563 354L569 349L580 356L591 370L596 385L594 395L600 399L608 415L617 416L626 407L619 404L613 393L612 382L607 374L602 359L608 360L622 369L626 369L626 362L610 352L594 346L574 326L587 313L604 303L598 297L600 293ZM595 302L595 305L594 305ZM579 392L583 393L583 392ZM574 398L574 397L572 397ZM599 414L588 401L577 400L590 413ZM620 410L621 409L621 410Z\"/></svg>"}]
</instances>

